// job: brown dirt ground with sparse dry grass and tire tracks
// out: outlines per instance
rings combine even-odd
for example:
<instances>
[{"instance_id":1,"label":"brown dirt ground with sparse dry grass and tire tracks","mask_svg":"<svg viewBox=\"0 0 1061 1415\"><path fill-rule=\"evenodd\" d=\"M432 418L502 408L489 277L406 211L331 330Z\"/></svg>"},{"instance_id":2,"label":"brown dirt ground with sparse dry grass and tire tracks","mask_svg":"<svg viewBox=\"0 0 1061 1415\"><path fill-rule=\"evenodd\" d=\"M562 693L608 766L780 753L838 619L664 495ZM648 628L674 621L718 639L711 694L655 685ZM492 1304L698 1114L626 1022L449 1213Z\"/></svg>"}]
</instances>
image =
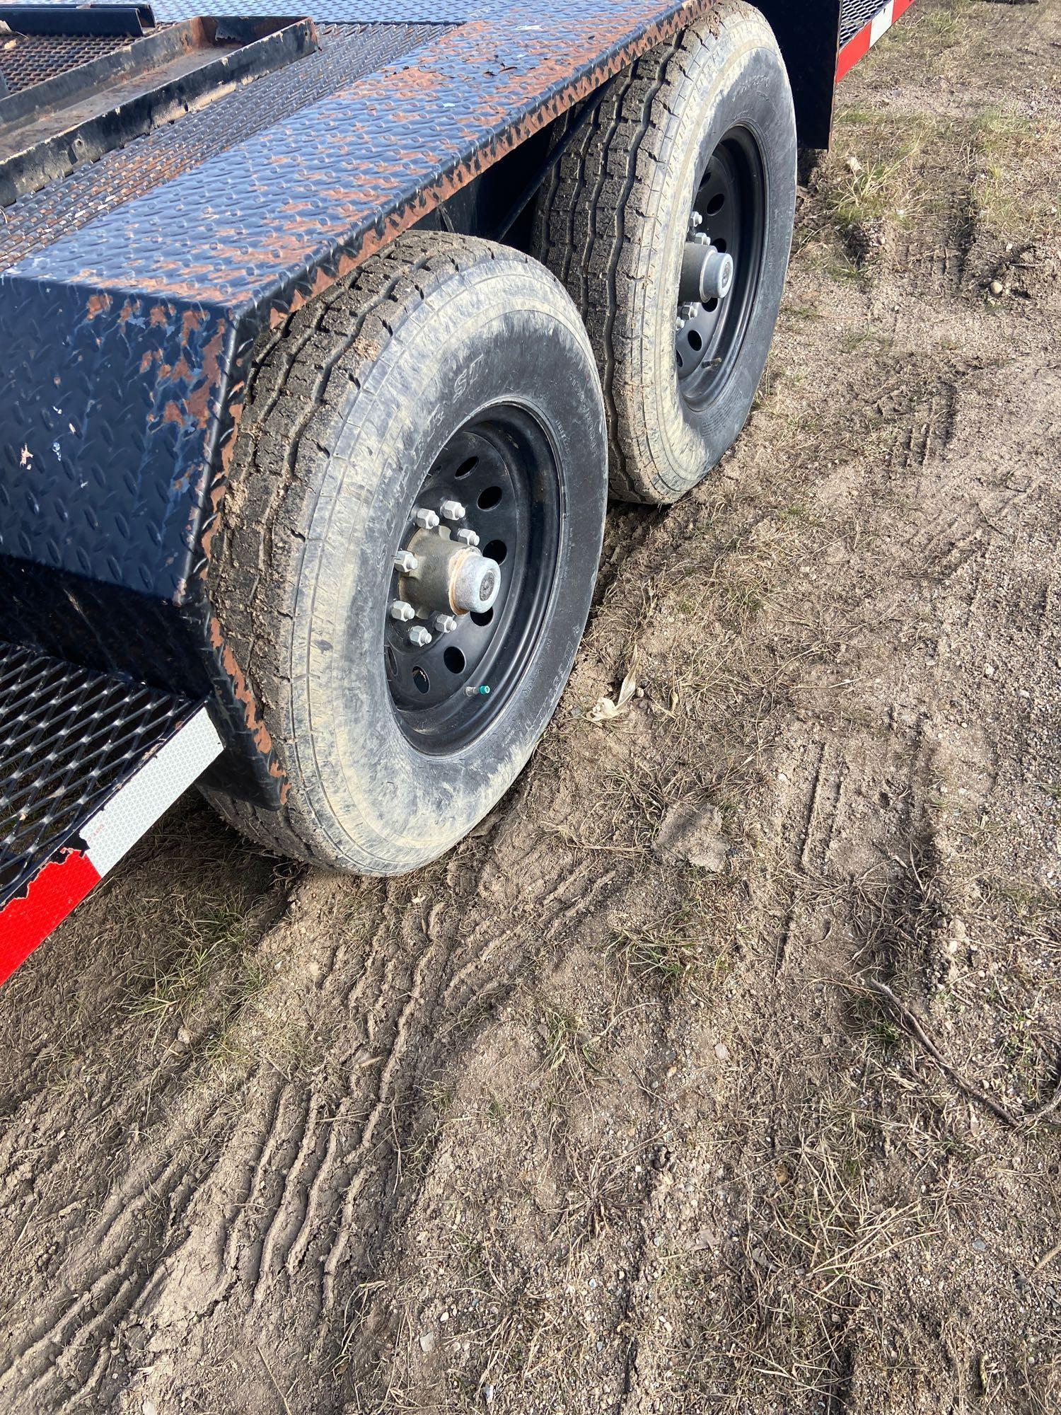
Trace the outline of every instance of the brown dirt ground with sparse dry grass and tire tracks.
<instances>
[{"instance_id":1,"label":"brown dirt ground with sparse dry grass and tire tracks","mask_svg":"<svg viewBox=\"0 0 1061 1415\"><path fill-rule=\"evenodd\" d=\"M845 82L743 441L460 849L192 798L3 989L0 1408L1061 1409L1058 93L1058 0Z\"/></svg>"}]
</instances>

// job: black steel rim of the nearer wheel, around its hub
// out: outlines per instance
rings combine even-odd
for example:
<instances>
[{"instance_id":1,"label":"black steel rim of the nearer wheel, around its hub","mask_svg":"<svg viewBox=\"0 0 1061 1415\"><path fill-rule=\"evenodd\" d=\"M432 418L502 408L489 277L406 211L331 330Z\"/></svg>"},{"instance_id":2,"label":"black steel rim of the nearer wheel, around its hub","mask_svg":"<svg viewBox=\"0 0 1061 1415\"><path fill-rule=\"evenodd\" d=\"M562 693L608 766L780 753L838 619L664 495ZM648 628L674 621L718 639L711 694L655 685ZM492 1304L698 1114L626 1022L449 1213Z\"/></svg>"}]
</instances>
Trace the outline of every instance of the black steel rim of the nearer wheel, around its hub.
<instances>
[{"instance_id":1,"label":"black steel rim of the nearer wheel, around its hub","mask_svg":"<svg viewBox=\"0 0 1061 1415\"><path fill-rule=\"evenodd\" d=\"M448 529L478 535L481 553L499 565L501 589L488 613L456 616L453 630L433 633L420 648L410 644L409 631L430 630L422 608L409 623L386 617L390 702L405 736L431 754L467 747L495 722L545 628L560 553L562 488L553 444L538 419L504 403L465 423L424 477L396 552L414 535L416 508L439 511L447 501L465 508ZM396 567L388 603L400 601L409 587Z\"/></svg>"}]
</instances>

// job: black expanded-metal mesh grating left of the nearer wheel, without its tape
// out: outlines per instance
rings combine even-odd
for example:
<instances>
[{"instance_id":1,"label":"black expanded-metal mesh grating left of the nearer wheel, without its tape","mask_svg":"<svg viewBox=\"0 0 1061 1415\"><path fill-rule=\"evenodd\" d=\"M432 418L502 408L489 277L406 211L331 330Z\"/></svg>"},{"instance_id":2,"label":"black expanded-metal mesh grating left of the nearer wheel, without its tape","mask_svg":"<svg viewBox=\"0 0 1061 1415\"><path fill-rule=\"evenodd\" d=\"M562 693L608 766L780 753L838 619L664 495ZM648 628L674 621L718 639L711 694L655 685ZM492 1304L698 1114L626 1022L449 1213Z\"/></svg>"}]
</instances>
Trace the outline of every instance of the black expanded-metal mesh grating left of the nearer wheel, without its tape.
<instances>
[{"instance_id":1,"label":"black expanded-metal mesh grating left of the nearer wheel, without its tape","mask_svg":"<svg viewBox=\"0 0 1061 1415\"><path fill-rule=\"evenodd\" d=\"M0 906L197 706L0 644Z\"/></svg>"}]
</instances>

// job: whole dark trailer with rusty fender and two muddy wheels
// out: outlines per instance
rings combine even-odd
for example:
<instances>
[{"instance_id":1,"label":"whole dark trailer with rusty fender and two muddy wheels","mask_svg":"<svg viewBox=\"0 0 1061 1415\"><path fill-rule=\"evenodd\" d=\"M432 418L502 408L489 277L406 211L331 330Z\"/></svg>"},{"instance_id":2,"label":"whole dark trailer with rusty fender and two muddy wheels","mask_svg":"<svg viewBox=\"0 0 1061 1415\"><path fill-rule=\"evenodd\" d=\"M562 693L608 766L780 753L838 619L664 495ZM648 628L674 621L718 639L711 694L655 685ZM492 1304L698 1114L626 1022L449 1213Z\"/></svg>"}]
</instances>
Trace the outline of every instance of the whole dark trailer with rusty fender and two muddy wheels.
<instances>
[{"instance_id":1,"label":"whole dark trailer with rusty fender and two muddy wheels","mask_svg":"<svg viewBox=\"0 0 1061 1415\"><path fill-rule=\"evenodd\" d=\"M908 3L0 3L0 981L194 782L362 873L491 809Z\"/></svg>"}]
</instances>

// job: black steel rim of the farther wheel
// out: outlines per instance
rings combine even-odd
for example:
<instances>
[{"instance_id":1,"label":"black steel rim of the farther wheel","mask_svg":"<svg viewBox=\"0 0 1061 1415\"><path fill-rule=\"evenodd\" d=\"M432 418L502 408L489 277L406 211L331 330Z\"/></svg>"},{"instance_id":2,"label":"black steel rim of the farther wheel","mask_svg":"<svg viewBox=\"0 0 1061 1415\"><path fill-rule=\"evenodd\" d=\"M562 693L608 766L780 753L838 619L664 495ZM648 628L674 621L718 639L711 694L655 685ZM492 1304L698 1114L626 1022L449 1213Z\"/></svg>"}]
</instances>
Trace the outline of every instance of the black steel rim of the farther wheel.
<instances>
[{"instance_id":1,"label":"black steel rim of the farther wheel","mask_svg":"<svg viewBox=\"0 0 1061 1415\"><path fill-rule=\"evenodd\" d=\"M697 174L689 212L689 235L706 235L734 263L733 284L723 299L678 308L678 388L696 413L720 396L740 357L758 291L765 231L763 156L748 129L733 127Z\"/></svg>"}]
</instances>

